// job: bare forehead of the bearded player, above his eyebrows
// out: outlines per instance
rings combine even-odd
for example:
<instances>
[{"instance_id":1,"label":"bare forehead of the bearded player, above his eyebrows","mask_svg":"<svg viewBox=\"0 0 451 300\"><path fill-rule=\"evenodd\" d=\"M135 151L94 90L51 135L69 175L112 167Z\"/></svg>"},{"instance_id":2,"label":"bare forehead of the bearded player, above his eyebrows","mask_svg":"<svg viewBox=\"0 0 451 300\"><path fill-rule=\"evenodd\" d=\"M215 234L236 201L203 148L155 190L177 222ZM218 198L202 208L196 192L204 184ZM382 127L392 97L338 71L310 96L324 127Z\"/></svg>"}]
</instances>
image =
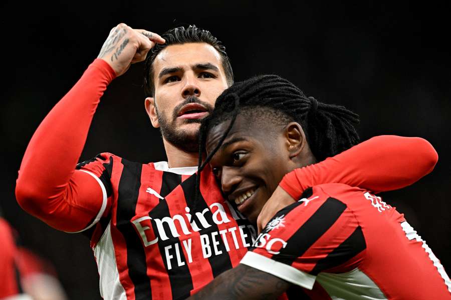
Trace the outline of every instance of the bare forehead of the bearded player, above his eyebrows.
<instances>
[{"instance_id":1,"label":"bare forehead of the bearded player, above his eyebrows","mask_svg":"<svg viewBox=\"0 0 451 300\"><path fill-rule=\"evenodd\" d=\"M153 68L154 73L158 74L165 67L189 67L205 62L210 62L222 70L221 55L212 45L190 42L165 47L155 57Z\"/></svg>"}]
</instances>

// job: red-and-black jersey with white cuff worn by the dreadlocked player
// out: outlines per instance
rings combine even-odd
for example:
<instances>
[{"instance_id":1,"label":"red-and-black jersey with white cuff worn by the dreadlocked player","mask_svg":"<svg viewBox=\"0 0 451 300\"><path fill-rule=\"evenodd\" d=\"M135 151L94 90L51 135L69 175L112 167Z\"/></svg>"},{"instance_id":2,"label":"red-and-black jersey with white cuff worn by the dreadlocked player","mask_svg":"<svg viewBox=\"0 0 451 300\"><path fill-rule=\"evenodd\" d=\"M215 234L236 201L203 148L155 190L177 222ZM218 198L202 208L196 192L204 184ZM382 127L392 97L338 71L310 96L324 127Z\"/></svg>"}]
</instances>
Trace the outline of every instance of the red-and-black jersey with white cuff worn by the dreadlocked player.
<instances>
[{"instance_id":1,"label":"red-and-black jersey with white cuff worn by the dreadlocked player","mask_svg":"<svg viewBox=\"0 0 451 300\"><path fill-rule=\"evenodd\" d=\"M340 183L280 210L241 263L294 283L288 298L451 299L443 266L403 215Z\"/></svg>"}]
</instances>

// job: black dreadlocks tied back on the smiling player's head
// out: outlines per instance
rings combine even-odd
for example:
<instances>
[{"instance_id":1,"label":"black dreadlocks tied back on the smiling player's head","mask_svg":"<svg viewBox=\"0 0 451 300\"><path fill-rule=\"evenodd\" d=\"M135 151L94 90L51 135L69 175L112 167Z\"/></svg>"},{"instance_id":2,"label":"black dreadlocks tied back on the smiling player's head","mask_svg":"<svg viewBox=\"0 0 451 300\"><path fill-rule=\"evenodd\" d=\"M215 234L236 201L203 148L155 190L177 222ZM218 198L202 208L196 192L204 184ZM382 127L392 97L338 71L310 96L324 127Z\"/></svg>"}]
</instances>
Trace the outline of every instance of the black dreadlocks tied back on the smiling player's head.
<instances>
[{"instance_id":1,"label":"black dreadlocks tied back on the smiling player's head","mask_svg":"<svg viewBox=\"0 0 451 300\"><path fill-rule=\"evenodd\" d=\"M210 161L229 134L239 113L268 115L280 122L296 121L304 129L310 149L318 161L334 156L359 141L354 124L358 115L344 106L326 104L307 97L290 81L277 75L260 75L237 82L216 99L214 110L203 119L199 130L199 160L196 199L199 195L200 171ZM215 148L202 163L207 133L211 128L231 120Z\"/></svg>"}]
</instances>

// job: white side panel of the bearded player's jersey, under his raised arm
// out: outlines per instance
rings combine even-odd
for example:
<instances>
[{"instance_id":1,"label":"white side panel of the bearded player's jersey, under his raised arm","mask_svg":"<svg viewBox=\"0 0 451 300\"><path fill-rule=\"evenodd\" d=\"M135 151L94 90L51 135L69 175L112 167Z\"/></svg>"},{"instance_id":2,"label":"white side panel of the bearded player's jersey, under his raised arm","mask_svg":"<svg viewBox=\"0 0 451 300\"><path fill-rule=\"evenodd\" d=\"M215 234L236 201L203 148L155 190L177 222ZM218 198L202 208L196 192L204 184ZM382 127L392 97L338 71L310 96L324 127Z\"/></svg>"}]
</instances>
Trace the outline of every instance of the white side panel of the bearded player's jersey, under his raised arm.
<instances>
[{"instance_id":1,"label":"white side panel of the bearded player's jersey, under his raised arm","mask_svg":"<svg viewBox=\"0 0 451 300\"><path fill-rule=\"evenodd\" d=\"M100 295L104 300L127 300L125 289L119 280L110 229L111 225L108 223L105 232L93 248L100 275Z\"/></svg>"}]
</instances>

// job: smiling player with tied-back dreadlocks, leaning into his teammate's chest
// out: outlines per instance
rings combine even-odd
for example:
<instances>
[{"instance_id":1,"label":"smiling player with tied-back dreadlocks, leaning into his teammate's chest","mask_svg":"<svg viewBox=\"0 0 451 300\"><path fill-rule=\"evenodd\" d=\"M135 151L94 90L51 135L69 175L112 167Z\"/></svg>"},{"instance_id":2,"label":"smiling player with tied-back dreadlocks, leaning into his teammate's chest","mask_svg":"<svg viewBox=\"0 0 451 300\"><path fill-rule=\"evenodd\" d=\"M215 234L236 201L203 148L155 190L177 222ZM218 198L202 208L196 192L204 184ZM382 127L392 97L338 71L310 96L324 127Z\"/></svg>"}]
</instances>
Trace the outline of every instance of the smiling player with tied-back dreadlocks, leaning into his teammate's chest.
<instances>
[{"instance_id":1,"label":"smiling player with tied-back dreadlocks, leaning into his teammate's chest","mask_svg":"<svg viewBox=\"0 0 451 300\"><path fill-rule=\"evenodd\" d=\"M439 260L380 197L342 183L301 194L299 168L355 144L356 121L345 107L306 97L276 75L236 83L218 97L201 126L208 155L199 169L209 163L224 195L251 220L270 197L292 204L237 267L192 299L451 298Z\"/></svg>"}]
</instances>

